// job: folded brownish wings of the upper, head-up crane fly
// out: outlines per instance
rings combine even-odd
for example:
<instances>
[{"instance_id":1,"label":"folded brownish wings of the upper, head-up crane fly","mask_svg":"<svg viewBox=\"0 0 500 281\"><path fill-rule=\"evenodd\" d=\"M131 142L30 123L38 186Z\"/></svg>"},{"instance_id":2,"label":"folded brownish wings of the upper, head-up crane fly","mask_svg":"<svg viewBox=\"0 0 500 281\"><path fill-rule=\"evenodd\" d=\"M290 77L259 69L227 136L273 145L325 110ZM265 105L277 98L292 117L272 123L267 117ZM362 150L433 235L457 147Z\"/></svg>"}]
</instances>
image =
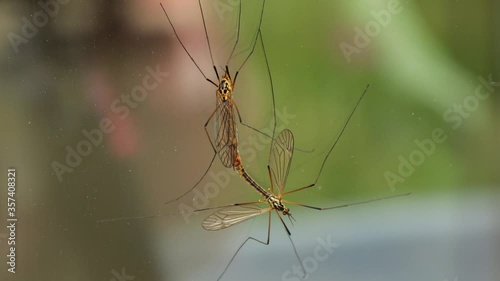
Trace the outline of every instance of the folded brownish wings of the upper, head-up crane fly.
<instances>
[{"instance_id":1,"label":"folded brownish wings of the upper, head-up crane fly","mask_svg":"<svg viewBox=\"0 0 500 281\"><path fill-rule=\"evenodd\" d=\"M219 158L226 168L233 166L237 154L236 123L231 100L217 99L217 113L215 119L215 148Z\"/></svg>"}]
</instances>

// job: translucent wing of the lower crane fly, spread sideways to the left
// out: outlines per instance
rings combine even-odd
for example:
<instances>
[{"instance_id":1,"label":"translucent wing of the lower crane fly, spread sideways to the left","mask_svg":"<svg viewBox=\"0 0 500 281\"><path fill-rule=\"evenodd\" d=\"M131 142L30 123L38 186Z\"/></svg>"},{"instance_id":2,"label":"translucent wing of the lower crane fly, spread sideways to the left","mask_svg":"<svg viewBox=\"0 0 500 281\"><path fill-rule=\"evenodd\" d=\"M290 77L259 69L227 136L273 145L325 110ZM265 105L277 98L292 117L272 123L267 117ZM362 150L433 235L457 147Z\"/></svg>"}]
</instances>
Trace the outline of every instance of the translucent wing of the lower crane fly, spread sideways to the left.
<instances>
[{"instance_id":1,"label":"translucent wing of the lower crane fly, spread sideways to the left","mask_svg":"<svg viewBox=\"0 0 500 281\"><path fill-rule=\"evenodd\" d=\"M240 222L265 214L272 210L270 207L261 209L257 206L234 206L219 210L206 217L201 225L206 230L221 230Z\"/></svg>"}]
</instances>

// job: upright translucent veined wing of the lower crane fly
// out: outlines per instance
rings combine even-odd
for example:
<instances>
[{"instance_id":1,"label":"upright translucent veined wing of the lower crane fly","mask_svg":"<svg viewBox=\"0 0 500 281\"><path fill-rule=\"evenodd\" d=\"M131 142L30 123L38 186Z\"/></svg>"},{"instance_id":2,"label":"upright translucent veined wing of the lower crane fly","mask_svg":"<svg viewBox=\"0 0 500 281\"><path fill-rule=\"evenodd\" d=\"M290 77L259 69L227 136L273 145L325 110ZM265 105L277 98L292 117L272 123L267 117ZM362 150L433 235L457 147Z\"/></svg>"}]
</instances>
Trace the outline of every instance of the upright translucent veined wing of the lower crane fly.
<instances>
[{"instance_id":1,"label":"upright translucent veined wing of the lower crane fly","mask_svg":"<svg viewBox=\"0 0 500 281\"><path fill-rule=\"evenodd\" d=\"M293 134L290 130L281 131L271 147L269 167L273 187L279 188L278 197L281 197L286 186L286 179L293 156Z\"/></svg>"}]
</instances>

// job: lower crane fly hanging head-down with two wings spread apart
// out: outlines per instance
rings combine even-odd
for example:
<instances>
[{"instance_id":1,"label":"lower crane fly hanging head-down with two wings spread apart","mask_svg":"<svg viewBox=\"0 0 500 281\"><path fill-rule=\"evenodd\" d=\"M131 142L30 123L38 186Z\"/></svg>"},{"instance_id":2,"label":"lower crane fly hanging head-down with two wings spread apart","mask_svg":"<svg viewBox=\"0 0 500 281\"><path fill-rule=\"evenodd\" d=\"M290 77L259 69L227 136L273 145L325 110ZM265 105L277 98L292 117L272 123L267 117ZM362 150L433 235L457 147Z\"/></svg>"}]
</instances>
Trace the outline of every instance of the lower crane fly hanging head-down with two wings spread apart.
<instances>
[{"instance_id":1,"label":"lower crane fly hanging head-down with two wings spread apart","mask_svg":"<svg viewBox=\"0 0 500 281\"><path fill-rule=\"evenodd\" d=\"M253 178L247 173L247 171L243 167L242 160L241 160L239 154L236 155L234 163L233 163L233 166L235 167L235 170L238 172L238 174L248 184L250 184L263 197L263 199L259 199L257 201L235 203L235 204L230 204L230 205L209 207L209 208L203 208L203 209L197 209L197 210L179 212L179 213L169 213L169 214L141 216L141 217L106 219L106 220L101 220L98 222L110 222L110 221L132 220L132 219L151 219L151 218L158 218L158 217L164 217L164 216L170 216L170 215L179 215L179 214L183 214L183 213L202 212L202 211L217 209L217 211L215 211L214 213L207 216L201 224L205 230L217 231L217 230L225 229L225 228L231 227L233 225L242 223L244 221L255 218L257 216L260 216L263 214L268 214L267 239L265 241L261 241L259 239L254 238L254 237L248 237L238 247L238 249L236 250L234 255L231 257L229 263L224 268L224 271L221 273L221 275L217 279L219 281L222 278L222 276L224 276L227 269L229 268L229 266L234 261L237 254L239 253L239 251L243 248L243 246L248 241L253 240L253 241L256 241L256 242L263 244L263 245L269 245L269 241L271 238L271 213L272 213L272 211L274 211L277 214L278 218L280 219L281 223L283 224L283 227L285 228L285 231L288 235L288 238L290 239L290 243L293 247L295 256L300 261L300 265L302 267L302 270L305 273L306 271L302 266L302 261L297 253L297 250L295 248L293 240L291 239L290 229L288 228L285 221L283 220L284 216L287 216L290 219L290 221L295 220L292 216L291 210L288 207L286 207L285 204L301 206L301 207L305 207L305 208L309 208L309 209L313 209L313 210L318 210L318 211L325 211L325 210L339 209L339 208L345 208L345 207L354 206L354 205L365 204L365 203L374 202L374 201L402 197L402 196L407 196L407 195L411 194L411 193L404 193L404 194L396 194L396 195L391 195L391 196L386 196L386 197L377 197L377 198L368 199L365 201L353 202L353 203L349 203L349 204L342 204L342 205L336 205L336 206L331 206L331 207L316 207L316 206L311 206L311 205L306 205L306 204L302 204L302 203L298 203L298 202L289 201L289 200L286 200L283 198L285 195L292 194L292 193L295 193L298 191L302 191L302 190L314 187L317 184L319 177L321 175L321 172L323 171L323 168L325 167L326 161L328 160L330 154L332 153L333 149L335 148L335 146L337 145L341 136L343 135L347 125L349 124L352 116L354 115L354 112L356 111L358 105L360 104L360 102L363 99L367 90L368 90L368 86L366 87L363 94L361 95L361 97L357 101L354 109L350 113L349 117L347 118L346 122L344 123L344 126L342 127L339 134L337 135L333 145L330 147L328 153L326 154L325 158L323 159L323 162L322 162L321 167L319 169L318 175L316 176L316 179L312 184L309 184L309 185L304 186L304 187L296 188L296 189L293 189L290 191L285 191L286 181L287 181L288 174L290 171L293 152L294 152L294 137L293 137L293 134L290 130L284 129L283 131L281 131L281 133L278 135L278 137L272 138L271 149L269 152L269 164L267 166L268 173L269 173L269 180L270 180L269 189L266 190L265 188L263 188L255 180L253 180ZM275 189L277 189L277 194L275 193ZM267 204L267 206L266 207L259 207L257 204Z\"/></svg>"}]
</instances>

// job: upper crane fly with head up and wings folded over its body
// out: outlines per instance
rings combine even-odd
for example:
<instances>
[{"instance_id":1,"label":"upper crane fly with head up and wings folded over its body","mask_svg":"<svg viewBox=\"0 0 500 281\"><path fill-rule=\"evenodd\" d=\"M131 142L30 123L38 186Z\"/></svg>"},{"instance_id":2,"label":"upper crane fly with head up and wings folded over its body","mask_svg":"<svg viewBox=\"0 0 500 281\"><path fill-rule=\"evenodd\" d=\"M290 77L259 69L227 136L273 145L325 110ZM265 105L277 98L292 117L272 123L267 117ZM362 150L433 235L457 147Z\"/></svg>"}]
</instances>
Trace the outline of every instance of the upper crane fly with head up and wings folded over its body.
<instances>
[{"instance_id":1,"label":"upper crane fly with head up and wings folded over its body","mask_svg":"<svg viewBox=\"0 0 500 281\"><path fill-rule=\"evenodd\" d=\"M184 51L186 52L186 54L189 56L189 58L191 59L191 61L194 63L194 65L196 66L196 68L199 70L199 72L203 75L203 77L205 78L206 81L208 81L209 83L211 83L213 86L216 87L216 107L215 107L215 110L212 112L212 114L210 115L210 117L208 118L208 120L206 121L205 125L204 125L204 129L205 129L205 133L208 137L208 140L210 141L210 145L212 146L212 149L214 151L214 155L210 161L210 164L208 165L207 167L207 170L203 173L203 175L201 176L201 178L195 183L195 185L193 187L191 187L189 190L187 190L184 194L180 195L179 197L173 199L173 200L170 200L168 202L166 202L165 204L168 204L168 203L171 203L171 202L174 202L174 201L177 201L179 200L180 198L184 197L185 195L187 195L189 192L191 192L204 178L205 176L207 175L208 171L210 170L210 168L212 167L212 164L214 163L214 160L215 158L219 157L219 159L221 160L221 163L224 167L226 168L234 168L234 163L235 163L235 159L238 155L238 136L237 136L237 129L236 129L236 120L235 120L235 111L238 115L238 119L239 119L239 122L240 124L260 133L260 134L263 134L269 138L271 138L271 136L259 131L258 129L246 124L243 122L242 118L241 118L241 115L240 115L240 112L239 112L239 109L238 109L238 106L236 105L236 102L233 100L233 91L235 89L235 85L236 85L236 80L238 78L238 74L240 73L240 70L243 68L243 66L246 64L246 62L248 61L248 59L252 56L252 54L254 53L255 51L255 46L257 44L257 40L258 38L260 38L261 42L262 42L262 34L261 34L261 24L262 24L262 18L263 18L263 15L264 15L264 6L265 6L265 0L262 1L262 8L261 8L261 12L260 12L260 19L259 19L259 23L258 23L258 28L257 28L257 33L255 35L255 39L252 40L252 47L251 47L251 50L249 52L249 54L246 56L246 58L244 59L243 63L237 68L235 74L234 74L234 77L231 76L230 72L229 72L229 62L231 61L231 58L233 57L233 54L236 50L236 47L238 45L238 42L239 42L239 39L240 39L240 26L241 26L241 0L239 1L239 12L238 12L238 24L237 24L237 33L236 33L236 40L235 40L235 43L232 47L232 51L229 55L229 58L227 60L227 63L226 63L226 66L224 68L224 74L222 76L219 76L219 72L217 71L217 67L215 66L215 63L214 63L214 58L213 58L213 54L212 54L212 47L211 47L211 44L210 44L210 40L209 40L209 36L208 36L208 32L207 32L207 26L206 26L206 22L205 22L205 15L203 13L203 7L202 7L202 4L201 4L201 0L198 0L198 5L199 5L199 8L200 8L200 13L201 13L201 17L202 17L202 21L203 21L203 27L204 27L204 30L205 30L205 37L206 37L206 41L207 41L207 45L208 45L208 49L209 49L209 52L210 52L210 59L211 59L211 62L212 62L212 67L213 67L213 70L215 72L215 76L217 77L217 83L214 82L214 80L208 78L208 76L203 72L203 70L201 70L200 66L198 65L198 63L196 63L196 61L194 60L193 56L189 53L189 51L187 50L186 46L184 45L184 43L182 42L182 40L180 39L179 35L177 34L177 31L174 27L174 24L173 22L171 21L166 9L164 8L163 4L160 3L162 9L163 9L163 12L165 14L165 16L167 17L167 20L168 22L170 23L170 26L172 27L172 30L174 32L174 35L175 37L177 38L177 41L180 43L180 45L182 46L182 48L184 49ZM270 74L270 70L269 70L269 63L267 61L267 56L265 54L265 49L264 49L264 44L262 43L262 48L264 50L264 58L265 58L265 61L266 61L266 66L267 66L267 71L268 71L268 74L269 74L269 78L271 80L271 74ZM271 80L271 84L272 84L272 80ZM271 96L272 96L272 104L273 104L273 112L274 112L274 90L272 88L272 85L271 85ZM274 112L273 114L274 116L274 124L276 126L276 113ZM216 136L214 138L214 141L212 141L212 137L210 136L210 133L208 132L207 130L207 126L208 124L210 123L210 121L215 117L215 133L216 133Z\"/></svg>"}]
</instances>

